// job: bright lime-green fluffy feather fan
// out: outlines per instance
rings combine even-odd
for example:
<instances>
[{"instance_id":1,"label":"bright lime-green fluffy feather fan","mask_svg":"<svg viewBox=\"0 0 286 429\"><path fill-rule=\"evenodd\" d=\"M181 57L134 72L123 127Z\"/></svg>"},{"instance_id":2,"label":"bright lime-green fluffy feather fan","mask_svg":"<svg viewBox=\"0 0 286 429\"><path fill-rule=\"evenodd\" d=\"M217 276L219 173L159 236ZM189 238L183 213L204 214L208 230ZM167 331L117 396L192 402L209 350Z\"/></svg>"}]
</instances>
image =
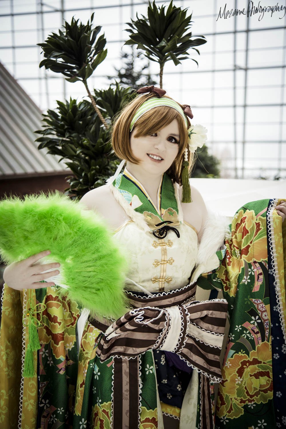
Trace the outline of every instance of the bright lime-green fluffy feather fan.
<instances>
[{"instance_id":1,"label":"bright lime-green fluffy feather fan","mask_svg":"<svg viewBox=\"0 0 286 429\"><path fill-rule=\"evenodd\" d=\"M126 258L93 211L55 191L46 196L6 197L0 202L0 253L5 263L50 250L60 263L60 296L92 315L117 319L126 313ZM42 263L48 261L43 258ZM9 285L8 285L9 286Z\"/></svg>"}]
</instances>

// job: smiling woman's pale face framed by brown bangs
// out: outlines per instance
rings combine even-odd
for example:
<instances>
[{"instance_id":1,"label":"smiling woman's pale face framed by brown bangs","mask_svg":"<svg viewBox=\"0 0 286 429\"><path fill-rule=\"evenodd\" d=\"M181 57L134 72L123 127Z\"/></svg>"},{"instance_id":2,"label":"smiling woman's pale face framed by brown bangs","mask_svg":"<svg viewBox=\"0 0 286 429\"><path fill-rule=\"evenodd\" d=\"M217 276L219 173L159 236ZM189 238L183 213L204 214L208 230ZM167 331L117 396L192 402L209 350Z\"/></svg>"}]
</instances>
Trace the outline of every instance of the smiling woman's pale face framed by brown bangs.
<instances>
[{"instance_id":1,"label":"smiling woman's pale face framed by brown bangs","mask_svg":"<svg viewBox=\"0 0 286 429\"><path fill-rule=\"evenodd\" d=\"M135 130L136 125L130 135L130 146L133 155L141 160L136 167L150 174L163 174L172 165L179 151L177 119L151 136L134 137Z\"/></svg>"}]
</instances>

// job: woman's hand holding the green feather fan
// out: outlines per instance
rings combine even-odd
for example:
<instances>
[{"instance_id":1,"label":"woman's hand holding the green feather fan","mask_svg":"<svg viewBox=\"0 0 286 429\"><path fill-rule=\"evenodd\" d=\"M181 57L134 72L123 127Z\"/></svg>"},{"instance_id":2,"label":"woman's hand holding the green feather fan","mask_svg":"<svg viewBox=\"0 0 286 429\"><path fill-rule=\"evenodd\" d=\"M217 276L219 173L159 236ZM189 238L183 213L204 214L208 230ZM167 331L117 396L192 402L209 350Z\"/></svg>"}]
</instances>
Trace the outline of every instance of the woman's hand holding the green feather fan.
<instances>
[{"instance_id":1,"label":"woman's hand holding the green feather fan","mask_svg":"<svg viewBox=\"0 0 286 429\"><path fill-rule=\"evenodd\" d=\"M49 271L46 273L43 273L43 271L57 268L60 266L60 264L53 262L49 264L33 265L39 259L47 256L48 254L50 254L50 251L40 252L36 255L30 256L27 259L13 262L12 264L6 266L3 272L3 279L7 286L16 290L39 289L42 287L54 286L53 282L40 283L40 281L59 274L59 271Z\"/></svg>"}]
</instances>

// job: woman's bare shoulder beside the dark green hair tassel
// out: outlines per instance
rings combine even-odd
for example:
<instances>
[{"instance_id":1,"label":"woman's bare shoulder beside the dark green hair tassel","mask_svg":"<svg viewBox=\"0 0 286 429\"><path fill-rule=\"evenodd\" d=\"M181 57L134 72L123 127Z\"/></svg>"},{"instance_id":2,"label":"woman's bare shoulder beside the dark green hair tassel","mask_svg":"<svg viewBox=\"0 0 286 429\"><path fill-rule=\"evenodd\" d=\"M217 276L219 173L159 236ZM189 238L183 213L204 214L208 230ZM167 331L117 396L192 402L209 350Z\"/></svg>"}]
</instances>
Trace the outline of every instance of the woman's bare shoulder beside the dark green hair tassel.
<instances>
[{"instance_id":1,"label":"woman's bare shoulder beside the dark green hair tassel","mask_svg":"<svg viewBox=\"0 0 286 429\"><path fill-rule=\"evenodd\" d=\"M202 194L196 187L191 185L192 202L184 203L182 202L182 187L179 186L178 190L184 221L196 228L198 237L200 238L205 220L208 217L208 209L206 208Z\"/></svg>"}]
</instances>

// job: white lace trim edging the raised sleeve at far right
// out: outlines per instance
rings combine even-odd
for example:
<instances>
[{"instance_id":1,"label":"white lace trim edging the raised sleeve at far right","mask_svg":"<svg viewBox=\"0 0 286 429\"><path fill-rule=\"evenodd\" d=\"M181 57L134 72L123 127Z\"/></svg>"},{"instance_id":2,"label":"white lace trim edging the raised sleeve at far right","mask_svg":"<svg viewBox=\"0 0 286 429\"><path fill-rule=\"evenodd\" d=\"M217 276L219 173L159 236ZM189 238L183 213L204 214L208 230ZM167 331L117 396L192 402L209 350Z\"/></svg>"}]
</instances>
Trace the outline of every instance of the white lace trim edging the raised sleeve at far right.
<instances>
[{"instance_id":1,"label":"white lace trim edging the raised sleeve at far right","mask_svg":"<svg viewBox=\"0 0 286 429\"><path fill-rule=\"evenodd\" d=\"M279 282L279 274L278 274L278 264L277 264L277 252L275 246L275 237L274 237L274 225L273 225L273 211L278 202L278 198L274 199L268 208L266 219L268 230L270 230L269 234L269 248L271 253L271 265L274 267L274 287L276 292L276 300L277 300L277 308L279 312L279 318L281 323L281 328L283 332L284 341L286 342L286 329L285 329L285 315L283 312L283 304L282 304L282 296L280 292L280 282Z\"/></svg>"}]
</instances>

